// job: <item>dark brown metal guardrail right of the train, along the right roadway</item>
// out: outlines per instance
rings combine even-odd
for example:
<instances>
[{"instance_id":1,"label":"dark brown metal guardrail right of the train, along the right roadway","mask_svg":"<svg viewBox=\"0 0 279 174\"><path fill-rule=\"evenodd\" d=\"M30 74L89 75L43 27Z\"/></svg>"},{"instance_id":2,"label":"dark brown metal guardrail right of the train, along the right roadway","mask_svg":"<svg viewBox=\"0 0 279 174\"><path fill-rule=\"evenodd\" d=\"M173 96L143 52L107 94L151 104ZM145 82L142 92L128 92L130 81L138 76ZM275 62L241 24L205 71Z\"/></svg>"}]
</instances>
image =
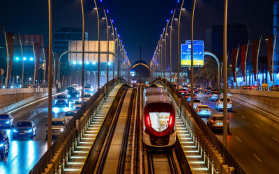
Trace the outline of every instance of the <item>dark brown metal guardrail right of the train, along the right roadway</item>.
<instances>
[{"instance_id":1,"label":"dark brown metal guardrail right of the train, along the right roadway","mask_svg":"<svg viewBox=\"0 0 279 174\"><path fill-rule=\"evenodd\" d=\"M176 88L165 79L156 79L156 81L162 84L163 86L166 86L169 89L169 91L176 95L177 99L179 99L177 100L174 98L174 100L176 100L176 103L179 103L179 105L181 106L180 111L183 113L183 116L185 116L185 120L189 123L190 132L193 132L193 137L195 138L195 141L197 140L197 142L199 142L199 147L202 148L202 146L204 146L204 144L201 143L201 140L203 135L206 136L206 139L210 143L212 143L213 148L216 148L216 150L218 150L218 153L223 157L223 164L227 164L229 167L234 167L233 173L246 173L243 170L243 168L241 168L239 163L234 159L234 157L232 157L229 151L225 148L223 143L217 138L217 136L211 131L211 129L209 129L209 127L204 123L204 121L197 115L197 113L190 106L190 104L188 104L188 102L181 95L181 93L179 93L179 90L176 90ZM188 116L187 112L190 113L190 116ZM190 117L192 117L194 121Z\"/></svg>"}]
</instances>

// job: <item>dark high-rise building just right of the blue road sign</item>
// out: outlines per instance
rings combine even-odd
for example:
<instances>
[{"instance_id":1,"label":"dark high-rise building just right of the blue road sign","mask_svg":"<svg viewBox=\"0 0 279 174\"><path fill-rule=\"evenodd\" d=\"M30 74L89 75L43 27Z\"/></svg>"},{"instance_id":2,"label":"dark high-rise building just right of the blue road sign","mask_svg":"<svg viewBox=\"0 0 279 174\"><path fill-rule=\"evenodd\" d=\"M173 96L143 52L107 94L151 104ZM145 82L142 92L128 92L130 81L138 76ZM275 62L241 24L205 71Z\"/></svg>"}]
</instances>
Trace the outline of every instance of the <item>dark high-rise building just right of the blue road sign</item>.
<instances>
[{"instance_id":1,"label":"dark high-rise building just right of the blue road sign","mask_svg":"<svg viewBox=\"0 0 279 174\"><path fill-rule=\"evenodd\" d=\"M232 52L234 47L247 44L248 30L241 23L228 24L227 26L227 50ZM213 52L223 57L223 25L212 26L206 30L206 51Z\"/></svg>"}]
</instances>

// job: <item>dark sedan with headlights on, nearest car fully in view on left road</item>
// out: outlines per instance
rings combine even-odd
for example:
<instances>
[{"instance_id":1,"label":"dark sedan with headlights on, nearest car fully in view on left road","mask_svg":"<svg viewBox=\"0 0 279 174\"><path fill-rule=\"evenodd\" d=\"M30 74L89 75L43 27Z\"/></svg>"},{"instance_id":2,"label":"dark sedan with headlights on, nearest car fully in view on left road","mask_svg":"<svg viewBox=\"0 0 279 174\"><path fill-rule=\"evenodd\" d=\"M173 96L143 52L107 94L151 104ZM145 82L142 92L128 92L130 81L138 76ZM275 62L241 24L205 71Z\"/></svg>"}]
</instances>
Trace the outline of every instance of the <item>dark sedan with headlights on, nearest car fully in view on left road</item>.
<instances>
[{"instance_id":1,"label":"dark sedan with headlights on, nearest car fully in view on left road","mask_svg":"<svg viewBox=\"0 0 279 174\"><path fill-rule=\"evenodd\" d=\"M32 121L19 121L13 129L13 139L20 136L29 136L33 139L36 136L36 125Z\"/></svg>"}]
</instances>

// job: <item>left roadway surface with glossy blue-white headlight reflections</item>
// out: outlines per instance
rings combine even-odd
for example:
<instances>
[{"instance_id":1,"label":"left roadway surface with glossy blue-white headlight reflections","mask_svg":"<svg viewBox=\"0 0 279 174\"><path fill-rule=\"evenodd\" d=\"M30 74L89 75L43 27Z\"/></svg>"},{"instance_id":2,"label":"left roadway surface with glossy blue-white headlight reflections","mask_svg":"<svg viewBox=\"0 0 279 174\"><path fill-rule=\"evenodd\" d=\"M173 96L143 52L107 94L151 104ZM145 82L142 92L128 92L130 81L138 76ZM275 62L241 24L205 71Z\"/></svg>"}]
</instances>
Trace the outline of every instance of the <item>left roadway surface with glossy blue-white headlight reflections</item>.
<instances>
[{"instance_id":1,"label":"left roadway surface with glossy blue-white headlight reflections","mask_svg":"<svg viewBox=\"0 0 279 174\"><path fill-rule=\"evenodd\" d=\"M70 104L73 106L73 104ZM68 108L52 109L53 118L63 117ZM23 109L11 113L14 122L19 120L32 120L37 126L34 139L13 139L13 130L6 129L10 139L10 152L8 157L0 160L0 173L29 173L40 157L47 150L45 130L47 127L47 100L31 104ZM14 124L14 125L15 125Z\"/></svg>"}]
</instances>

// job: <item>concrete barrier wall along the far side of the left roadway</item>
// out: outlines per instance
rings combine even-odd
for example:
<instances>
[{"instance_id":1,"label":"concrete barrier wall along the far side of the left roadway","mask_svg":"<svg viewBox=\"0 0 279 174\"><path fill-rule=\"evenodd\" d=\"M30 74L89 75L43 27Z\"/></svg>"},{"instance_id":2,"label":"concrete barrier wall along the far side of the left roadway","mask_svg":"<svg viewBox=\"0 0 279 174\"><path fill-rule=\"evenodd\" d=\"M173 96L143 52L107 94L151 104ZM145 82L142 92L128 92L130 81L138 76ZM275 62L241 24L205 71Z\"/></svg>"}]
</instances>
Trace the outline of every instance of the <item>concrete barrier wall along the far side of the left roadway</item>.
<instances>
[{"instance_id":1,"label":"concrete barrier wall along the far side of the left roadway","mask_svg":"<svg viewBox=\"0 0 279 174\"><path fill-rule=\"evenodd\" d=\"M18 106L27 104L33 100L37 100L40 97L47 95L47 88L26 88L26 89L1 89L0 95L0 113L2 109L8 111L7 108L15 109ZM53 93L56 93L56 88L52 89ZM26 92L26 93L25 93ZM5 109L6 108L6 109Z\"/></svg>"}]
</instances>

